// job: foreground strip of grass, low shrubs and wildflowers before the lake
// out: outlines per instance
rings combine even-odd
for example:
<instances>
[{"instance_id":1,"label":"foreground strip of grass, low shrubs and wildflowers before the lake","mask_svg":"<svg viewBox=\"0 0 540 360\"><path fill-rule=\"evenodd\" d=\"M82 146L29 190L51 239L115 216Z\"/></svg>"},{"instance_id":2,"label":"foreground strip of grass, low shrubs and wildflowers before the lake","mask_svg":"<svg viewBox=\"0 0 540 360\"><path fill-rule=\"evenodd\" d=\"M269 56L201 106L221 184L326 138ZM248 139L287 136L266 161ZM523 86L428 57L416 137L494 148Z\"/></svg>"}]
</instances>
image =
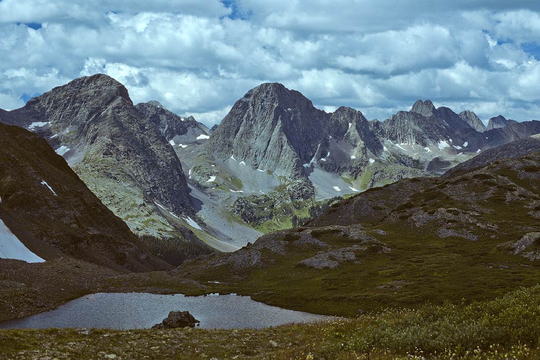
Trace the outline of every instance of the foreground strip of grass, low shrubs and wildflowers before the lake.
<instances>
[{"instance_id":1,"label":"foreground strip of grass, low shrubs and wildflowers before the lake","mask_svg":"<svg viewBox=\"0 0 540 360\"><path fill-rule=\"evenodd\" d=\"M540 286L261 330L1 330L4 359L537 359Z\"/></svg>"}]
</instances>

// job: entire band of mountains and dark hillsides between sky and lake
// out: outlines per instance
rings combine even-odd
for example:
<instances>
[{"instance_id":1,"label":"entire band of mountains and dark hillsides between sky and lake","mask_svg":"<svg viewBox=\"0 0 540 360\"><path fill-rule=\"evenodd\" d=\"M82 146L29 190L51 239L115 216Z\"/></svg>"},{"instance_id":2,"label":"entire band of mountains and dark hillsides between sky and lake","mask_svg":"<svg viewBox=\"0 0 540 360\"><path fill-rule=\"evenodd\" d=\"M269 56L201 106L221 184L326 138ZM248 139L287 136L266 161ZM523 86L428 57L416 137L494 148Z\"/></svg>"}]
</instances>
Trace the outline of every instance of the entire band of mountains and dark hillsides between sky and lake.
<instances>
[{"instance_id":1,"label":"entire band of mountains and dark hillsides between sky and lake","mask_svg":"<svg viewBox=\"0 0 540 360\"><path fill-rule=\"evenodd\" d=\"M0 320L133 291L356 317L540 276L538 121L368 120L262 84L209 130L98 74L0 123Z\"/></svg>"}]
</instances>

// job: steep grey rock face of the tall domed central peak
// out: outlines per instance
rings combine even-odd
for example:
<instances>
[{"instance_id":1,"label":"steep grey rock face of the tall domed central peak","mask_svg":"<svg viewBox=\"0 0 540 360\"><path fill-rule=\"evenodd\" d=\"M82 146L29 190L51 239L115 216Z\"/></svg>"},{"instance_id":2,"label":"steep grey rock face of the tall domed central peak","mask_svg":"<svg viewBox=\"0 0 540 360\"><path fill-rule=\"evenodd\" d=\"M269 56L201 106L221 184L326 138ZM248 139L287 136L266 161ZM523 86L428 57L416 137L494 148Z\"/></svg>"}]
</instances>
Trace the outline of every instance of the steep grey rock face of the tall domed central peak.
<instances>
[{"instance_id":1,"label":"steep grey rock face of the tall domed central peak","mask_svg":"<svg viewBox=\"0 0 540 360\"><path fill-rule=\"evenodd\" d=\"M313 158L325 138L328 118L300 92L262 84L234 104L206 150L301 179L302 164Z\"/></svg>"}]
</instances>

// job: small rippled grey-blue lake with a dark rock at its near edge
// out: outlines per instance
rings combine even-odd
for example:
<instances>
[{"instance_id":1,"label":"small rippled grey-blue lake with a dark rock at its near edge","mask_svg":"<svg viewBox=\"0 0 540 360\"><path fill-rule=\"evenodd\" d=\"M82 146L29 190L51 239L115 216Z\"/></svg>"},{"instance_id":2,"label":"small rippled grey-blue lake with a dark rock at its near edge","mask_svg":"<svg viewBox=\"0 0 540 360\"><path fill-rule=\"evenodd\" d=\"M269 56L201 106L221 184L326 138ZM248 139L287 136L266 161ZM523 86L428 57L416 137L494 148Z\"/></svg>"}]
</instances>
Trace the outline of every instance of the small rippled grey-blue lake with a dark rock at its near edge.
<instances>
[{"instance_id":1,"label":"small rippled grey-blue lake with a dark rock at its near edge","mask_svg":"<svg viewBox=\"0 0 540 360\"><path fill-rule=\"evenodd\" d=\"M0 329L145 329L163 321L170 311L186 310L200 320L201 328L266 328L332 318L282 309L235 294L98 293L79 297L45 313L0 322Z\"/></svg>"}]
</instances>

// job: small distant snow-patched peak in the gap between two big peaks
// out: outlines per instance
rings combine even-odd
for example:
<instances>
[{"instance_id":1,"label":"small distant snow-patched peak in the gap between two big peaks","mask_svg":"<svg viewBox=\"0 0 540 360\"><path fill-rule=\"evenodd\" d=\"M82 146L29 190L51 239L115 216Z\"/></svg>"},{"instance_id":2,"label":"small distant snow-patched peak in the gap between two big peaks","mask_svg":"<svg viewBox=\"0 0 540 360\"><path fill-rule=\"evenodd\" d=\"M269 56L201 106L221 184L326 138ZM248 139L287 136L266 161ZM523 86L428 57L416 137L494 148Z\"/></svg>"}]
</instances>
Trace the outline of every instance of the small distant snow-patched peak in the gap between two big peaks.
<instances>
[{"instance_id":1,"label":"small distant snow-patched peak in the gap between two big peaks","mask_svg":"<svg viewBox=\"0 0 540 360\"><path fill-rule=\"evenodd\" d=\"M192 116L181 118L177 114L168 111L156 100L140 103L135 107L141 114L149 118L152 123L158 125L159 131L172 146L181 146L180 144L194 142L198 138L205 139L210 132L205 125L196 121Z\"/></svg>"}]
</instances>

